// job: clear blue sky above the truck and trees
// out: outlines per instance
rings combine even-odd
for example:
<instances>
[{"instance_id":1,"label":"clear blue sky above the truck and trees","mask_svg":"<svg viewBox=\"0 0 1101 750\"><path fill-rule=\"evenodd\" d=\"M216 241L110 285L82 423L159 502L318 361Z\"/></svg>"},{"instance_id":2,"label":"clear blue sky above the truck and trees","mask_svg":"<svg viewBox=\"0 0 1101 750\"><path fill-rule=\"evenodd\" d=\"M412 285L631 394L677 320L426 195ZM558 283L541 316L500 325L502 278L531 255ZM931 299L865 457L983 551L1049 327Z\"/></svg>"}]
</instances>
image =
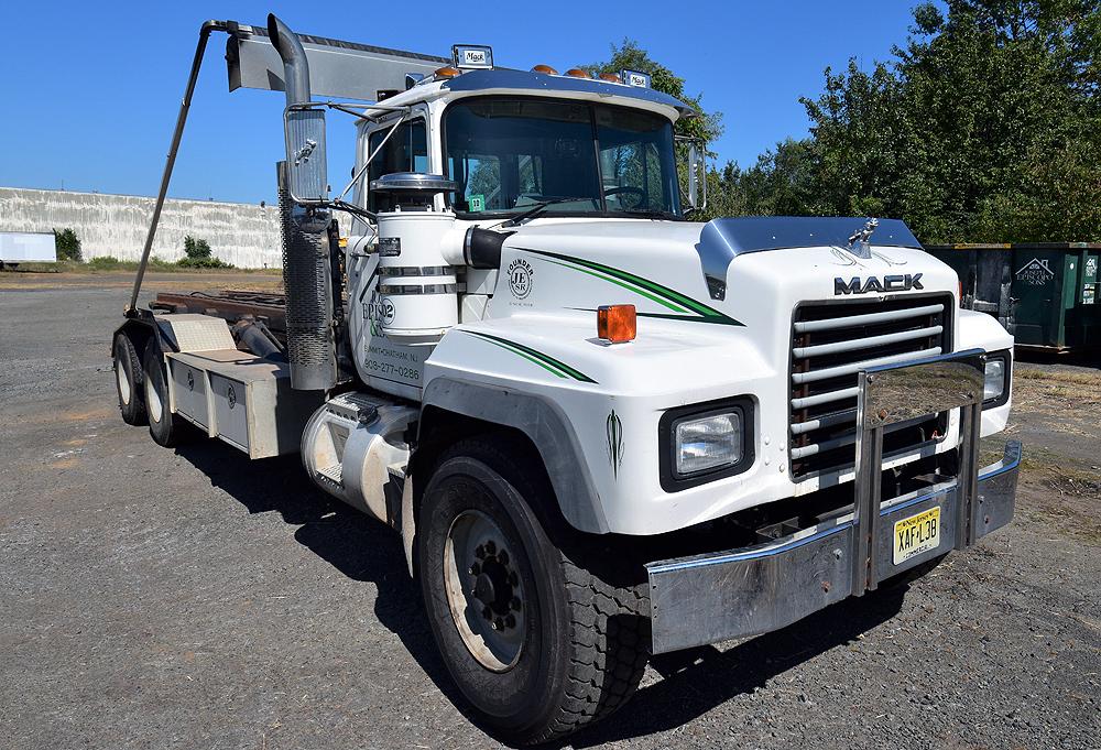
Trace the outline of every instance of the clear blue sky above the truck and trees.
<instances>
[{"instance_id":1,"label":"clear blue sky above the truck and trees","mask_svg":"<svg viewBox=\"0 0 1101 750\"><path fill-rule=\"evenodd\" d=\"M607 58L631 37L724 115L719 161L743 166L807 132L799 96L822 69L862 67L904 44L917 0L853 2L30 2L7 13L0 74L0 185L152 195L175 122L199 24L262 24L447 55L491 44L495 61L565 69ZM502 11L502 8L504 9ZM283 95L230 95L225 36L211 40L170 195L271 200L282 153ZM330 115L329 171L351 165L351 130ZM344 126L344 127L340 127Z\"/></svg>"}]
</instances>

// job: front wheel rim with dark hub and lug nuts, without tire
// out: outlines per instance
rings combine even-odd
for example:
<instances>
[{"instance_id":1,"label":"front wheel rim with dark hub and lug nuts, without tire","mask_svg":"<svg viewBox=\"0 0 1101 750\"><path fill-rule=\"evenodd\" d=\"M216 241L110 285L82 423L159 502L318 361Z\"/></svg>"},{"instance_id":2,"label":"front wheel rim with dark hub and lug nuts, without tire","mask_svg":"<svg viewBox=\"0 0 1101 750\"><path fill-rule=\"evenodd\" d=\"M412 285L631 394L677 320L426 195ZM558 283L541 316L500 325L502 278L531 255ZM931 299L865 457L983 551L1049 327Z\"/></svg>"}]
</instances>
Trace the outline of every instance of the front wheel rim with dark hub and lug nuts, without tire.
<instances>
[{"instance_id":1,"label":"front wheel rim with dark hub and lug nuts, without tire","mask_svg":"<svg viewBox=\"0 0 1101 750\"><path fill-rule=\"evenodd\" d=\"M523 581L514 551L484 513L466 510L447 531L444 586L451 619L479 664L505 672L524 646Z\"/></svg>"}]
</instances>

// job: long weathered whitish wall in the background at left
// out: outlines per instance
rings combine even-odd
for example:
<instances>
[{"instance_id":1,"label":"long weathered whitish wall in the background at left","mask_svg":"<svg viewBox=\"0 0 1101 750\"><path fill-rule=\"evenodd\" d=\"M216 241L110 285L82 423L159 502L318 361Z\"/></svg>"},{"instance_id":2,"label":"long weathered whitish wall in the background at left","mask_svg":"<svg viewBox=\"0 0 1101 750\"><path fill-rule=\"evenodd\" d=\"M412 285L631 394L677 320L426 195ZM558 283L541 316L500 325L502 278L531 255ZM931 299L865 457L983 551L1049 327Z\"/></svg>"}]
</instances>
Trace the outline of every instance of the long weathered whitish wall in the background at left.
<instances>
[{"instance_id":1,"label":"long weathered whitish wall in the background at left","mask_svg":"<svg viewBox=\"0 0 1101 750\"><path fill-rule=\"evenodd\" d=\"M141 258L153 216L153 198L66 191L0 187L0 231L72 228L85 260L110 256ZM341 233L349 224L340 217ZM238 268L281 267L279 209L273 204L168 199L153 242L153 254L174 261L184 256L184 237L210 243L214 254Z\"/></svg>"}]
</instances>

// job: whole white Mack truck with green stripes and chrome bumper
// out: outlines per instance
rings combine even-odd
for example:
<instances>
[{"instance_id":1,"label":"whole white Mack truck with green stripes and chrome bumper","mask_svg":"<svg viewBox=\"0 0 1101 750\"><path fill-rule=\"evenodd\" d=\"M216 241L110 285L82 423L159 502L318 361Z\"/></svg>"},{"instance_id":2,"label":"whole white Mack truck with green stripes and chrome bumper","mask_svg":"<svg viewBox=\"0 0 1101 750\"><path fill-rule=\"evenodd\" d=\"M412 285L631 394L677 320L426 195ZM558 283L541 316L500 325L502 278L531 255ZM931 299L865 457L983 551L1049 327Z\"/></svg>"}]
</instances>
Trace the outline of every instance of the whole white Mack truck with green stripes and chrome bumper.
<instances>
[{"instance_id":1,"label":"whole white Mack truck with green stripes and chrome bumper","mask_svg":"<svg viewBox=\"0 0 1101 750\"><path fill-rule=\"evenodd\" d=\"M285 295L139 308L212 32L231 89L286 94ZM902 221L691 220L691 110L648 83L209 21L113 338L128 423L301 452L402 535L451 677L514 742L623 705L651 653L776 630L1013 515L1021 446L978 463L1011 336ZM357 122L339 194L327 110Z\"/></svg>"}]
</instances>

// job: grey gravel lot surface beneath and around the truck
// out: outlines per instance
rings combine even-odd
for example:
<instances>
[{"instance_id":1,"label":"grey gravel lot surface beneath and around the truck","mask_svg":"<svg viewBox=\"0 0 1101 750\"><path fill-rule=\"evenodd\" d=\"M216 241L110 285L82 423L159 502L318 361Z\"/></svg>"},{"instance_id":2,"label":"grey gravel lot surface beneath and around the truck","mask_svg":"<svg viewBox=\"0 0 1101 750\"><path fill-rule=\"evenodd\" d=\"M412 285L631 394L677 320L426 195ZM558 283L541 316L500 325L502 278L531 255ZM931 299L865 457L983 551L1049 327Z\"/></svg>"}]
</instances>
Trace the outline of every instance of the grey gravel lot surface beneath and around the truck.
<instances>
[{"instance_id":1,"label":"grey gravel lot surface beneath and around the truck","mask_svg":"<svg viewBox=\"0 0 1101 750\"><path fill-rule=\"evenodd\" d=\"M124 426L123 285L19 286L0 291L0 747L495 746L453 703L396 536L294 458ZM1098 748L1101 376L1031 369L1010 528L908 588L655 659L570 747Z\"/></svg>"}]
</instances>

